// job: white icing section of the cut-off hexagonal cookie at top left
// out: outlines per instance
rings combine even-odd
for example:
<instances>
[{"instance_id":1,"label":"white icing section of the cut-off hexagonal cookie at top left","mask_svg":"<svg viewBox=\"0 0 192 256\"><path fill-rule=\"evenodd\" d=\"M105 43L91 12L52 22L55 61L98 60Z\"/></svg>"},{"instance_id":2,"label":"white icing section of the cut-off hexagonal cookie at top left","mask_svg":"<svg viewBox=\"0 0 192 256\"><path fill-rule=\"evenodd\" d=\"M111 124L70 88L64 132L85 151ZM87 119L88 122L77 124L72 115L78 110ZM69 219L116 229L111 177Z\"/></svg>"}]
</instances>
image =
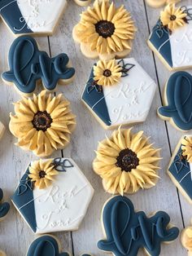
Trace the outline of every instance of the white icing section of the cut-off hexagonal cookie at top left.
<instances>
[{"instance_id":1,"label":"white icing section of the cut-off hexagonal cookie at top left","mask_svg":"<svg viewBox=\"0 0 192 256\"><path fill-rule=\"evenodd\" d=\"M28 26L34 33L52 33L62 15L66 0L18 0L22 16L16 32Z\"/></svg>"}]
</instances>

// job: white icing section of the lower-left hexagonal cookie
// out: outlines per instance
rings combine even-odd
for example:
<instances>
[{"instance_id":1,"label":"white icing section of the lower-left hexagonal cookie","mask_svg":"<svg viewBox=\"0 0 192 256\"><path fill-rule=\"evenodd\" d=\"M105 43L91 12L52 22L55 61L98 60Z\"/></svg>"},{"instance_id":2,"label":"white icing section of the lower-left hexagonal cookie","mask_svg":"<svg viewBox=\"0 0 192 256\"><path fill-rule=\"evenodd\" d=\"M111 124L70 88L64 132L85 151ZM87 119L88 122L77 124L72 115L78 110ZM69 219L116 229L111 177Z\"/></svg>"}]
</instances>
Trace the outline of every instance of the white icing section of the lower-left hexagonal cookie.
<instances>
[{"instance_id":1,"label":"white icing section of the lower-left hexagonal cookie","mask_svg":"<svg viewBox=\"0 0 192 256\"><path fill-rule=\"evenodd\" d=\"M76 163L59 172L50 187L33 190L37 234L78 229L94 189Z\"/></svg>"}]
</instances>

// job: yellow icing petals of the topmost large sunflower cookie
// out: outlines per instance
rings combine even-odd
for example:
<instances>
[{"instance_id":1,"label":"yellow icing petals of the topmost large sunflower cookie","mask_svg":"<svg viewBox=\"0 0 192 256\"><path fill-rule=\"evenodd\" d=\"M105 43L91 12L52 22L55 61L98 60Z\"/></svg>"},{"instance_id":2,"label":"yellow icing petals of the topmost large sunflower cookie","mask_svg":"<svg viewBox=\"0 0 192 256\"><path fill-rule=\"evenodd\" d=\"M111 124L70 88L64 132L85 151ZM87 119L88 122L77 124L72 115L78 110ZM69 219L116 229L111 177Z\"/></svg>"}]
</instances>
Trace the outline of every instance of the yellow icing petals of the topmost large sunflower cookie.
<instances>
[{"instance_id":1,"label":"yellow icing petals of the topmost large sunflower cookie","mask_svg":"<svg viewBox=\"0 0 192 256\"><path fill-rule=\"evenodd\" d=\"M114 32L103 37L96 31L96 24L106 20L114 25ZM116 7L109 0L94 2L81 14L81 21L76 25L76 37L81 43L88 43L91 51L99 54L111 54L131 49L130 40L134 38L136 29L129 11L124 6Z\"/></svg>"}]
</instances>

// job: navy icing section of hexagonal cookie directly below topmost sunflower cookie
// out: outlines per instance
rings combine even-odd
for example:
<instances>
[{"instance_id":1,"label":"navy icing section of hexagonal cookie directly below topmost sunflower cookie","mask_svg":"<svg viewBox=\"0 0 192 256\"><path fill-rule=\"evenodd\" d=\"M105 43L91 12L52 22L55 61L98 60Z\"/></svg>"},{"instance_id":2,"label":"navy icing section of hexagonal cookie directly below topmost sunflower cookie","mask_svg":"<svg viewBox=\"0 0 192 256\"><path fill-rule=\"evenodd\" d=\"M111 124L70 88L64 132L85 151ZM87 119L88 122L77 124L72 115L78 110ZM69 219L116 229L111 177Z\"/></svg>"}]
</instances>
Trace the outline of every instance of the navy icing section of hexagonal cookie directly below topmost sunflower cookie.
<instances>
[{"instance_id":1,"label":"navy icing section of hexagonal cookie directly below topmost sunflower cookie","mask_svg":"<svg viewBox=\"0 0 192 256\"><path fill-rule=\"evenodd\" d=\"M92 68L89 80L94 80L94 68ZM111 119L109 117L107 104L105 101L105 96L103 94L103 90L100 90L98 93L97 86L94 86L93 90L89 91L89 82L87 82L85 86L85 90L82 95L82 99L86 104L89 105L90 108L96 113L96 115L107 125L111 126ZM98 103L98 104L97 104ZM94 108L93 108L94 107Z\"/></svg>"}]
</instances>

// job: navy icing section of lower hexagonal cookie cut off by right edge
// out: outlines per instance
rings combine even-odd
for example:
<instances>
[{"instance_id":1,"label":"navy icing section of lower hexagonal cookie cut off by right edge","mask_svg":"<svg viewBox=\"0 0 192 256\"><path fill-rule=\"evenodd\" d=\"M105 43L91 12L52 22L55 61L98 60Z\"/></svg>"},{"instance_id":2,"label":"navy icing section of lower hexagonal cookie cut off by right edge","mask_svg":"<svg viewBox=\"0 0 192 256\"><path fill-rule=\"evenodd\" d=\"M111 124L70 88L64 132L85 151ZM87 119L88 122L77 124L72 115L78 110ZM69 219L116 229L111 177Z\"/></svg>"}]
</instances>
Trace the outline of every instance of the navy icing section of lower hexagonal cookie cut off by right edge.
<instances>
[{"instance_id":1,"label":"navy icing section of lower hexagonal cookie cut off by right edge","mask_svg":"<svg viewBox=\"0 0 192 256\"><path fill-rule=\"evenodd\" d=\"M174 157L174 160L172 161L171 166L169 166L168 168L168 172L172 174L174 179L176 179L177 183L181 185L186 194L190 196L190 199L192 200L192 180L190 173L190 165L185 160L185 158L183 158L181 161L181 153L182 150L180 146L176 156Z\"/></svg>"}]
</instances>

